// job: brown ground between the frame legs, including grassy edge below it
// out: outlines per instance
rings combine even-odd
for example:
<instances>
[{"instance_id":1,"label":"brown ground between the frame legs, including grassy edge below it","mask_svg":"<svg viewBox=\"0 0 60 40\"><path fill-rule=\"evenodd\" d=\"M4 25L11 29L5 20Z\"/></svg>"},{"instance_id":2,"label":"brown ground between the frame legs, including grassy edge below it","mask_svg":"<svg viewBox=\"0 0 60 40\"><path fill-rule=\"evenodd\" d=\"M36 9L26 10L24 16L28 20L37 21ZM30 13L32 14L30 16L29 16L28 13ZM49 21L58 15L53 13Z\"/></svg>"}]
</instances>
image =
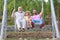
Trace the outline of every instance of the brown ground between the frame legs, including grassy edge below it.
<instances>
[{"instance_id":1,"label":"brown ground between the frame legs, including grassy edge below it","mask_svg":"<svg viewBox=\"0 0 60 40\"><path fill-rule=\"evenodd\" d=\"M47 38L48 37L48 38ZM51 32L9 32L5 40L52 40Z\"/></svg>"}]
</instances>

